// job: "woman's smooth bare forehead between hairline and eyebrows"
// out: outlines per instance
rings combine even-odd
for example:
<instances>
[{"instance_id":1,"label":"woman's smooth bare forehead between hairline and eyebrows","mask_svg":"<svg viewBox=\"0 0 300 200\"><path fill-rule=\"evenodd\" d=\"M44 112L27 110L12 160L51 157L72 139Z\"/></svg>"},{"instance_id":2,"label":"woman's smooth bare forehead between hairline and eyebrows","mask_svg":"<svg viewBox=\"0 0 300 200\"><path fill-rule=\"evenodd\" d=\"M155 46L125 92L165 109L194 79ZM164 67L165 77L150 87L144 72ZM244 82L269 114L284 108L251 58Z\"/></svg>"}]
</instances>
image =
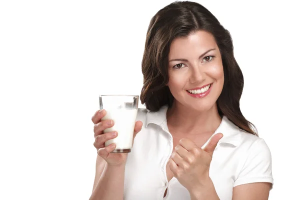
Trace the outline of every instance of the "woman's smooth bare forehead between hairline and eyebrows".
<instances>
[{"instance_id":1,"label":"woman's smooth bare forehead between hairline and eyebrows","mask_svg":"<svg viewBox=\"0 0 300 200\"><path fill-rule=\"evenodd\" d=\"M169 58L188 57L194 54L199 56L199 54L210 48L217 49L213 35L204 30L198 30L186 37L173 39L170 46Z\"/></svg>"}]
</instances>

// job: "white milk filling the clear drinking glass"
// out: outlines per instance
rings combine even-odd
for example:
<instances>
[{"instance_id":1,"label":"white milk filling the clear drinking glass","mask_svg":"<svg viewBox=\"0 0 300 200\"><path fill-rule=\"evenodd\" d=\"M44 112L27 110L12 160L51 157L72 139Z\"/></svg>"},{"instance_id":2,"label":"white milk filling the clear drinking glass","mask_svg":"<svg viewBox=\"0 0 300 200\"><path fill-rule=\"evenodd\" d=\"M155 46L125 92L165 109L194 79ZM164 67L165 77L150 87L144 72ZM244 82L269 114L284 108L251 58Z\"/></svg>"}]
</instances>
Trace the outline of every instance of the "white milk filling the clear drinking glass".
<instances>
[{"instance_id":1,"label":"white milk filling the clear drinking glass","mask_svg":"<svg viewBox=\"0 0 300 200\"><path fill-rule=\"evenodd\" d=\"M114 125L104 129L104 133L117 131L117 136L105 142L105 146L115 143L115 149L131 149L133 130L137 109L134 108L106 108L106 114L101 120L111 119Z\"/></svg>"}]
</instances>

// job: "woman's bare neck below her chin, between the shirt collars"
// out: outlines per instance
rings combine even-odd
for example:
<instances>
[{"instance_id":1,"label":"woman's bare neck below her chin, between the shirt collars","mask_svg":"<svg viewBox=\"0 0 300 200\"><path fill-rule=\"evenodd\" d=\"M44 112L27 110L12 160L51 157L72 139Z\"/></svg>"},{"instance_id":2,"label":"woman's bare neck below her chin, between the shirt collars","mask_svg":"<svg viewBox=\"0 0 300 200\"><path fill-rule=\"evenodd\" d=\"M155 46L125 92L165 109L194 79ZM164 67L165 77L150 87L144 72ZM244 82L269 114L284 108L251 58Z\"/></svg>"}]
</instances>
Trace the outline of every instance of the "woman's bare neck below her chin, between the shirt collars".
<instances>
[{"instance_id":1,"label":"woman's bare neck below her chin, between the shirt collars","mask_svg":"<svg viewBox=\"0 0 300 200\"><path fill-rule=\"evenodd\" d=\"M221 122L216 103L209 110L198 111L174 102L166 118L168 126L183 134L213 133Z\"/></svg>"}]
</instances>

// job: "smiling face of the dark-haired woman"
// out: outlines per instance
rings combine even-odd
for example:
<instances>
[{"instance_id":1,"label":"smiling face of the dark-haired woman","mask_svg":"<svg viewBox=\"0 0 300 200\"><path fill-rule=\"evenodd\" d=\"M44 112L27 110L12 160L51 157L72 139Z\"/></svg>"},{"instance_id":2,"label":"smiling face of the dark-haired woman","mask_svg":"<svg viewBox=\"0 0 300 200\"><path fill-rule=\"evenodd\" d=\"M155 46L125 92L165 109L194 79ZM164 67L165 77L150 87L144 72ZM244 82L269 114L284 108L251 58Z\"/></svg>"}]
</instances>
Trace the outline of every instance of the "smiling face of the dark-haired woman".
<instances>
[{"instance_id":1,"label":"smiling face of the dark-haired woman","mask_svg":"<svg viewBox=\"0 0 300 200\"><path fill-rule=\"evenodd\" d=\"M198 111L216 105L224 73L221 55L212 34L198 30L175 38L168 55L168 87L176 104Z\"/></svg>"}]
</instances>

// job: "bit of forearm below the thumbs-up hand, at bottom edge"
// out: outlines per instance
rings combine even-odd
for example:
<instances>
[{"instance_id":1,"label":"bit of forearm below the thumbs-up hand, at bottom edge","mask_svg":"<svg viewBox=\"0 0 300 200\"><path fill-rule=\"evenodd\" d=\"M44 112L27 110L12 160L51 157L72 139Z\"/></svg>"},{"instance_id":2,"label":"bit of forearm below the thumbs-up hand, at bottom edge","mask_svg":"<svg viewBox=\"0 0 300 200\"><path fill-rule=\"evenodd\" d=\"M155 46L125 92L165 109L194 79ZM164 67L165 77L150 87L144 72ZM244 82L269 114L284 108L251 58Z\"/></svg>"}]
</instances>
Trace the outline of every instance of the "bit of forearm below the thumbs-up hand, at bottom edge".
<instances>
[{"instance_id":1,"label":"bit of forearm below the thumbs-up hand, at bottom edge","mask_svg":"<svg viewBox=\"0 0 300 200\"><path fill-rule=\"evenodd\" d=\"M194 188L192 191L189 191L190 200L200 200L200 199L210 199L210 200L220 200L218 197L213 182L209 178L209 181L203 186Z\"/></svg>"}]
</instances>

